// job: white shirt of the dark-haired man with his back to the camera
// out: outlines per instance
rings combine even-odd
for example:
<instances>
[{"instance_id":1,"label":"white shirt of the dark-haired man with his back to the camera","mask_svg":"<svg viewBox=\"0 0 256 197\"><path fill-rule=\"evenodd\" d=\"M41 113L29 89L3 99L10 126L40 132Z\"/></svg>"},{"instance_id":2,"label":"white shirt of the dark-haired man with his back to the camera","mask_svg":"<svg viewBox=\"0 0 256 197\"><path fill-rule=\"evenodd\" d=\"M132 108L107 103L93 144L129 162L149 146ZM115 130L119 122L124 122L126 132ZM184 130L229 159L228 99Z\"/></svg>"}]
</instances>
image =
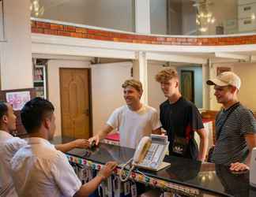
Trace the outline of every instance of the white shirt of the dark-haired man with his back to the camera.
<instances>
[{"instance_id":1,"label":"white shirt of the dark-haired man with his back to the camera","mask_svg":"<svg viewBox=\"0 0 256 197\"><path fill-rule=\"evenodd\" d=\"M73 196L81 181L66 155L46 139L28 138L11 160L13 182L20 197Z\"/></svg>"}]
</instances>

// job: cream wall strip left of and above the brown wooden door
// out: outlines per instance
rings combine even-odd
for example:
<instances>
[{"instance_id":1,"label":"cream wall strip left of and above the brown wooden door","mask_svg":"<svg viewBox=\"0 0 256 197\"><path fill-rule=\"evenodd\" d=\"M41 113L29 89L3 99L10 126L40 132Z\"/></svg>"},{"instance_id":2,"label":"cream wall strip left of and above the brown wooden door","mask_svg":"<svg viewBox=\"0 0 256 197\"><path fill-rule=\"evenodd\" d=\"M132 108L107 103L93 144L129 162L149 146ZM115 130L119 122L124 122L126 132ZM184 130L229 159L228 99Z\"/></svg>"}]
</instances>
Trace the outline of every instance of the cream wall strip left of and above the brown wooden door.
<instances>
[{"instance_id":1,"label":"cream wall strip left of and above the brown wooden door","mask_svg":"<svg viewBox=\"0 0 256 197\"><path fill-rule=\"evenodd\" d=\"M60 68L89 68L89 61L50 60L48 61L48 99L55 106L56 132L55 136L62 135L62 116L60 103Z\"/></svg>"}]
</instances>

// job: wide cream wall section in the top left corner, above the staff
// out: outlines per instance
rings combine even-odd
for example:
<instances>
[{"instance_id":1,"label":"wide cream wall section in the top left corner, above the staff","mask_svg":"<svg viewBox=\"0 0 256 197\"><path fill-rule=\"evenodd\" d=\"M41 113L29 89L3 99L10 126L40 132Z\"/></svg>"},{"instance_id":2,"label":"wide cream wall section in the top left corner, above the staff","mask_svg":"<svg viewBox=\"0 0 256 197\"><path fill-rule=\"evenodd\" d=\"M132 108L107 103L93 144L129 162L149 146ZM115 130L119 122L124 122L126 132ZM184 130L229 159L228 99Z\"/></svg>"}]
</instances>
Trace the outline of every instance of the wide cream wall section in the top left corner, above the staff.
<instances>
[{"instance_id":1,"label":"wide cream wall section in the top left corner, above the staff","mask_svg":"<svg viewBox=\"0 0 256 197\"><path fill-rule=\"evenodd\" d=\"M32 84L30 1L4 1L6 42L0 43L2 90Z\"/></svg>"}]
</instances>

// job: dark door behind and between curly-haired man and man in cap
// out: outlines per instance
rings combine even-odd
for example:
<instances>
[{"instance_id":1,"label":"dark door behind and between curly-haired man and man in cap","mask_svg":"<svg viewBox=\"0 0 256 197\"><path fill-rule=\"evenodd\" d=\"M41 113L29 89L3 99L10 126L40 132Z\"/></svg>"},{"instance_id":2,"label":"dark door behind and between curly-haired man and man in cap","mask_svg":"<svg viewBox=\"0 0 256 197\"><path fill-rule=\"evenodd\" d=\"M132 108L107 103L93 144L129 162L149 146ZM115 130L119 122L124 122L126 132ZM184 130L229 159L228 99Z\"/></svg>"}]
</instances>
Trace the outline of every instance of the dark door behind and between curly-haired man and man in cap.
<instances>
[{"instance_id":1,"label":"dark door behind and between curly-haired man and man in cap","mask_svg":"<svg viewBox=\"0 0 256 197\"><path fill-rule=\"evenodd\" d=\"M183 97L194 102L194 71L181 70L180 81Z\"/></svg>"}]
</instances>

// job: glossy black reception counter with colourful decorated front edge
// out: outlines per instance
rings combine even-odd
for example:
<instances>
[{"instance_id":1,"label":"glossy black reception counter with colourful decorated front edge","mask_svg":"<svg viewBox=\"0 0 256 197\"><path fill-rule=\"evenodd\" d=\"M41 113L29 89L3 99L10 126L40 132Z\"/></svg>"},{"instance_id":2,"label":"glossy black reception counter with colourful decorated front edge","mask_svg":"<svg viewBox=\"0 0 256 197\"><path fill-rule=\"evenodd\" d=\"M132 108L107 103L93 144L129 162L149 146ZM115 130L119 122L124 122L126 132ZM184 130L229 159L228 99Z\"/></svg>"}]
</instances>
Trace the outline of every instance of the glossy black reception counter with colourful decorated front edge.
<instances>
[{"instance_id":1,"label":"glossy black reception counter with colourful decorated front edge","mask_svg":"<svg viewBox=\"0 0 256 197\"><path fill-rule=\"evenodd\" d=\"M52 143L66 143L70 139L55 138ZM113 144L100 143L92 150L73 149L66 155L71 163L87 165L92 169L101 169L106 162L119 164L127 162L134 155L134 149ZM249 173L232 173L227 166L201 163L186 158L166 156L164 162L171 163L158 172L134 170L131 180L162 188L185 196L256 196L249 185ZM119 173L117 168L114 173Z\"/></svg>"}]
</instances>

